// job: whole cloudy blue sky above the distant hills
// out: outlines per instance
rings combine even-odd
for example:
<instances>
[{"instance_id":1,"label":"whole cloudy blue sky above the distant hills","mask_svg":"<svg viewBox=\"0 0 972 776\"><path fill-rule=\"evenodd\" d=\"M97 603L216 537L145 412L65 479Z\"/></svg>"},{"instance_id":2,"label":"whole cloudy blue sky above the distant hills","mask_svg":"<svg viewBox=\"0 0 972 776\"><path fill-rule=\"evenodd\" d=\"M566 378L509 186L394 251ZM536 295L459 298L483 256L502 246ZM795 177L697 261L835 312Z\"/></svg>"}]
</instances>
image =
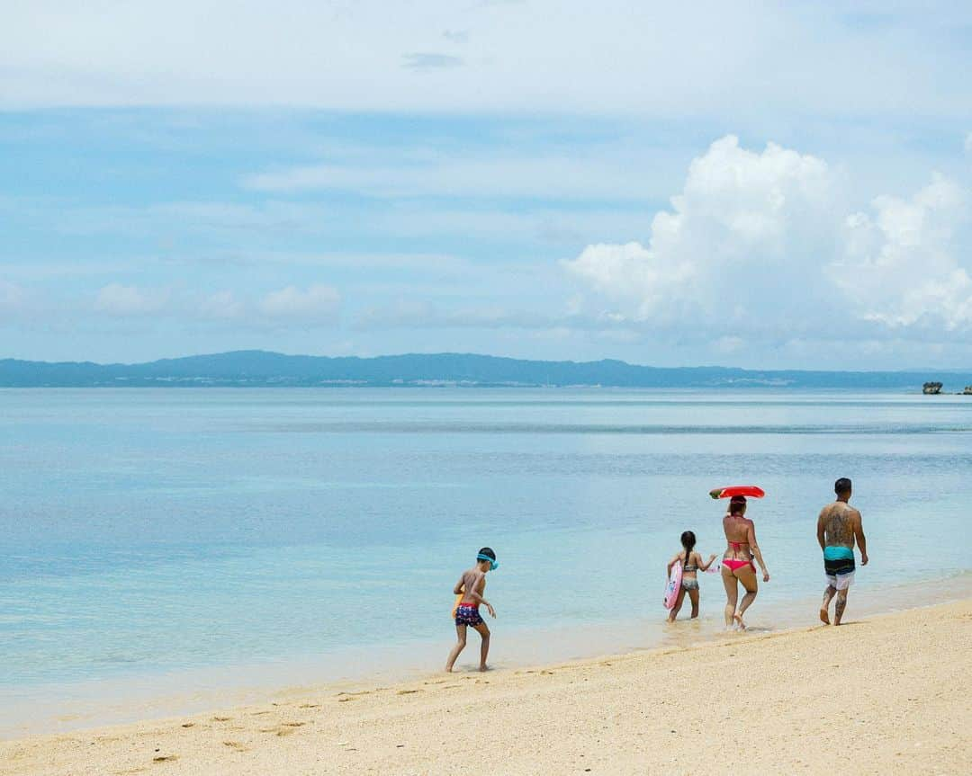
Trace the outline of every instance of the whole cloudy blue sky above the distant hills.
<instances>
[{"instance_id":1,"label":"whole cloudy blue sky above the distant hills","mask_svg":"<svg viewBox=\"0 0 972 776\"><path fill-rule=\"evenodd\" d=\"M972 365L970 4L0 3L0 357Z\"/></svg>"}]
</instances>

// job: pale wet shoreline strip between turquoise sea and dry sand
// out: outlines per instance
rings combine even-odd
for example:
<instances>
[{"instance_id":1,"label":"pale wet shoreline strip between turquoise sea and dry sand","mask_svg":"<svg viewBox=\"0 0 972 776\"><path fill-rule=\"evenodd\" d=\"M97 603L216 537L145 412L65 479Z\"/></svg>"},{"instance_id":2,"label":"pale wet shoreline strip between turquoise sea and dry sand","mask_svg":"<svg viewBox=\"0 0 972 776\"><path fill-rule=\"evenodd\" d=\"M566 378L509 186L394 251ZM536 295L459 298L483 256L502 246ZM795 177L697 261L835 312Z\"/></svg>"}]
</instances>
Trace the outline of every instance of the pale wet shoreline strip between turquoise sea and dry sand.
<instances>
[{"instance_id":1,"label":"pale wet shoreline strip between turquoise sea and dry sand","mask_svg":"<svg viewBox=\"0 0 972 776\"><path fill-rule=\"evenodd\" d=\"M950 591L938 603L972 599L972 572L957 572L929 580L927 584L938 582L950 583ZM874 618L935 605L916 606L914 590L914 583L860 586L854 590L850 615L855 619ZM718 592L712 590L711 594L717 596ZM746 618L749 623L746 635L775 636L814 627L819 624L817 607L816 596L774 600L762 605L757 601ZM595 621L499 631L491 651L491 658L495 659L490 664L498 672L511 672L606 655L704 648L727 637L720 606L709 606L694 621L688 620L687 611L683 609L674 625L665 622L659 605L657 617L641 617L624 623L623 627L614 621ZM622 637L622 632L627 635ZM443 638L434 642L415 641L403 647L370 645L348 650L336 659L329 654L315 660L199 666L176 673L0 688L0 743L271 702L281 694L299 692L301 688L357 692L376 683L396 685L428 680L441 675L439 663L444 662L453 638L451 627L447 627ZM473 635L457 668L471 668L477 656L478 641Z\"/></svg>"}]
</instances>

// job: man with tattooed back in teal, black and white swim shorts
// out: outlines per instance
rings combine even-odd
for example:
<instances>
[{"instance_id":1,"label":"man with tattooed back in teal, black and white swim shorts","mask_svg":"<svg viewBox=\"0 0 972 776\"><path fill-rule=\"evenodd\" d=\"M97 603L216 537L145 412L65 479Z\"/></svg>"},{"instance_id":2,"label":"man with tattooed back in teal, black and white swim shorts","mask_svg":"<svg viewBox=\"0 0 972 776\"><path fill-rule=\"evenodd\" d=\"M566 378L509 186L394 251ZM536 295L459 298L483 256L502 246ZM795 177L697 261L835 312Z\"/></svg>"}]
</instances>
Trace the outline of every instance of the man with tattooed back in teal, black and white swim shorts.
<instances>
[{"instance_id":1,"label":"man with tattooed back in teal, black and white swim shorts","mask_svg":"<svg viewBox=\"0 0 972 776\"><path fill-rule=\"evenodd\" d=\"M823 573L827 578L827 589L823 591L820 606L820 622L830 624L828 609L830 601L837 596L834 604L834 624L841 624L844 610L848 605L848 588L853 582L853 544L857 540L860 549L860 564L867 565L867 541L861 525L860 513L848 502L851 500L851 481L842 477L834 483L837 500L820 510L816 520L816 541L823 551Z\"/></svg>"}]
</instances>

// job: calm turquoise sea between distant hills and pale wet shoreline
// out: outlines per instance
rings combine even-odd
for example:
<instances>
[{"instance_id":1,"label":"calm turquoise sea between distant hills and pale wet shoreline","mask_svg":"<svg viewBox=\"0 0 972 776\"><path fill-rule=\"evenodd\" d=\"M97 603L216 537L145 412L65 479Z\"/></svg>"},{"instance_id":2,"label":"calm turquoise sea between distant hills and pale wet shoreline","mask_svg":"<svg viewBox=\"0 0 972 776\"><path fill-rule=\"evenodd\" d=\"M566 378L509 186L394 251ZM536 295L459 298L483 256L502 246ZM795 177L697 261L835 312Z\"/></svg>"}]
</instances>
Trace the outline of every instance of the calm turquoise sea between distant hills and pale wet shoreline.
<instances>
[{"instance_id":1,"label":"calm turquoise sea between distant hills and pale wet shoreline","mask_svg":"<svg viewBox=\"0 0 972 776\"><path fill-rule=\"evenodd\" d=\"M723 505L707 493L734 483L768 493L750 510L773 573L757 621L820 590L816 514L838 476L870 543L861 589L970 567L963 397L31 389L0 402L10 697L215 666L325 670L356 653L366 671L367 649L393 641L437 666L451 588L484 544L502 564L488 588L498 659L504 638L544 627L614 628L637 646L648 638L630 625L663 615L678 534L721 553Z\"/></svg>"}]
</instances>

